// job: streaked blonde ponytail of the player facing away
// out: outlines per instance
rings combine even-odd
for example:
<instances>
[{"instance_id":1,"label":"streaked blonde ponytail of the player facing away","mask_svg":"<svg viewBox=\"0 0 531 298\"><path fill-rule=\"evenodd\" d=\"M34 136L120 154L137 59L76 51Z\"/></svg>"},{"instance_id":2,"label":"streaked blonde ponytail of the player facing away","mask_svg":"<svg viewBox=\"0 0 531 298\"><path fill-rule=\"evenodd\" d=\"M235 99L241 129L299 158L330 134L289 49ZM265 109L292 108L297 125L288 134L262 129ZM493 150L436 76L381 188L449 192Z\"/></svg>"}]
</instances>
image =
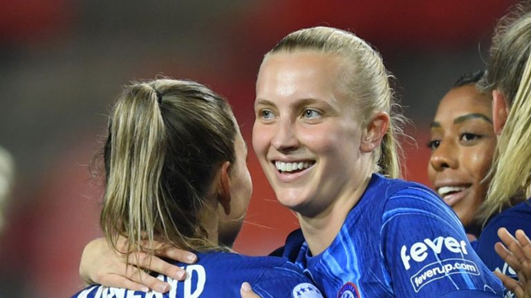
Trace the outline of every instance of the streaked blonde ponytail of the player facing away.
<instances>
[{"instance_id":1,"label":"streaked blonde ponytail of the player facing away","mask_svg":"<svg viewBox=\"0 0 531 298\"><path fill-rule=\"evenodd\" d=\"M129 244L153 241L160 212L160 175L166 131L157 92L142 83L125 90L109 121L106 192L100 224L116 248L119 236ZM107 162L108 161L108 162ZM142 235L142 233L147 235ZM137 248L140 250L140 246Z\"/></svg>"}]
</instances>

